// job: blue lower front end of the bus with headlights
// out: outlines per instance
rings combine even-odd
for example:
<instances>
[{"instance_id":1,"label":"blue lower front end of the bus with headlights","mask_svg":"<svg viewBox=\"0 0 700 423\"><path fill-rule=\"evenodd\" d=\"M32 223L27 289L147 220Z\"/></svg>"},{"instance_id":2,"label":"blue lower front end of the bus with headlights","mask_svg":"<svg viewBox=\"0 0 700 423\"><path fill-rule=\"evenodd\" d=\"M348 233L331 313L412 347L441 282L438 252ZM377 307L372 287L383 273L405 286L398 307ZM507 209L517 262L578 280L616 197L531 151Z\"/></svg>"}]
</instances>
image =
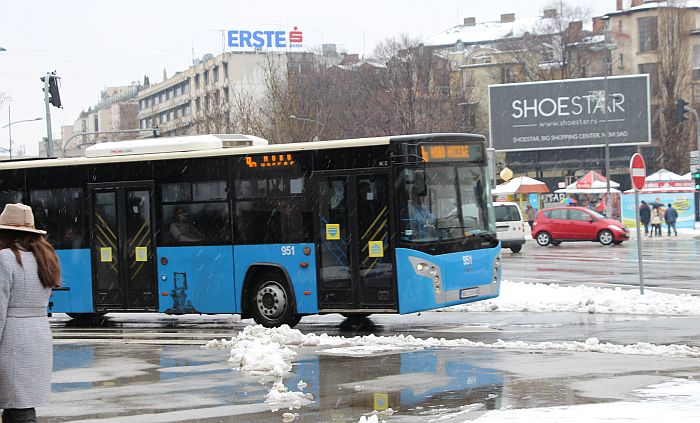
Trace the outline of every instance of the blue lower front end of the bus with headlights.
<instances>
[{"instance_id":1,"label":"blue lower front end of the bus with headlights","mask_svg":"<svg viewBox=\"0 0 700 423\"><path fill-rule=\"evenodd\" d=\"M498 296L501 245L431 256L396 249L399 313L414 313ZM494 269L497 278L494 280Z\"/></svg>"}]
</instances>

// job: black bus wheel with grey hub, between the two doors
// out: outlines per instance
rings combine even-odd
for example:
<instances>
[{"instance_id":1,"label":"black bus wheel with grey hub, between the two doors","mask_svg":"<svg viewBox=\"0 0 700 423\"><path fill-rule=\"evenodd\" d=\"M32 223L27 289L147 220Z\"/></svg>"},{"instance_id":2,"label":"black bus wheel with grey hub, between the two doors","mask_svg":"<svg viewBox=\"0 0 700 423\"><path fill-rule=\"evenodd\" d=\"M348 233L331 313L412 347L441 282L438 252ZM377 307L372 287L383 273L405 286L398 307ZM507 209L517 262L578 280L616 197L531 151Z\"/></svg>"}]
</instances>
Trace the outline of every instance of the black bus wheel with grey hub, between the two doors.
<instances>
[{"instance_id":1,"label":"black bus wheel with grey hub, between the two doors","mask_svg":"<svg viewBox=\"0 0 700 423\"><path fill-rule=\"evenodd\" d=\"M274 328L287 324L294 327L301 320L301 316L295 313L289 285L276 272L264 272L257 278L251 301L253 320L259 325Z\"/></svg>"}]
</instances>

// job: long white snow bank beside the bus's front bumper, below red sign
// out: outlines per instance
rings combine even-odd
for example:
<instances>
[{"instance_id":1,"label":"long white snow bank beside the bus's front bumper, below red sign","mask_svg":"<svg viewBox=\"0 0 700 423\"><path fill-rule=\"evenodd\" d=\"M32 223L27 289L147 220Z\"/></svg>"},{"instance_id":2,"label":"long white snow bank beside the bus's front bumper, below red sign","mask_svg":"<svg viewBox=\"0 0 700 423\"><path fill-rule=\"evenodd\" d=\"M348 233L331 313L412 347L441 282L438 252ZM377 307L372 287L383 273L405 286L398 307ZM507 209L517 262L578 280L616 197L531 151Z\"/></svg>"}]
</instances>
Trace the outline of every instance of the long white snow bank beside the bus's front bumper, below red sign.
<instances>
[{"instance_id":1,"label":"long white snow bank beside the bus's front bumper, below red sign","mask_svg":"<svg viewBox=\"0 0 700 423\"><path fill-rule=\"evenodd\" d=\"M492 300L462 304L444 311L569 311L578 313L700 315L700 297L638 289L561 286L558 284L503 281Z\"/></svg>"}]
</instances>

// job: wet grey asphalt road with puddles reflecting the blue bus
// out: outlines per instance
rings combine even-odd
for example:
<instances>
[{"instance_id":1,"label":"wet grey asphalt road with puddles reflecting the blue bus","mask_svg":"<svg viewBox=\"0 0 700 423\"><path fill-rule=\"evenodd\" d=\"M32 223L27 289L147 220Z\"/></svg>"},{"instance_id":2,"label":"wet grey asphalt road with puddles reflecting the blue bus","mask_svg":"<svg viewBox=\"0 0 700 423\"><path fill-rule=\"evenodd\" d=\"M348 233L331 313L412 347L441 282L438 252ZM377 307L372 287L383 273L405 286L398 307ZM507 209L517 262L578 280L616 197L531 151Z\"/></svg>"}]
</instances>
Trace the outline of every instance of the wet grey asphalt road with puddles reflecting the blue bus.
<instances>
[{"instance_id":1,"label":"wet grey asphalt road with puddles reflecting the blue bus","mask_svg":"<svg viewBox=\"0 0 700 423\"><path fill-rule=\"evenodd\" d=\"M698 294L697 240L645 243L647 286ZM593 243L504 252L504 279L636 287L636 244ZM663 276L663 277L662 277ZM237 316L110 314L92 326L52 319L55 338L51 405L42 422L357 422L382 406L396 412L388 422L465 421L489 409L542 407L634 400L632 391L672 377L696 376L697 358L601 353L436 349L334 357L304 348L284 379L314 403L296 410L270 410L271 383L229 368L228 351L202 349L206 341L230 338L250 320ZM339 315L304 317L304 333L355 336L373 333L416 337L498 339L527 342L584 341L700 346L697 317L582 313L429 312L372 316L363 326ZM451 417L448 417L451 416Z\"/></svg>"}]
</instances>

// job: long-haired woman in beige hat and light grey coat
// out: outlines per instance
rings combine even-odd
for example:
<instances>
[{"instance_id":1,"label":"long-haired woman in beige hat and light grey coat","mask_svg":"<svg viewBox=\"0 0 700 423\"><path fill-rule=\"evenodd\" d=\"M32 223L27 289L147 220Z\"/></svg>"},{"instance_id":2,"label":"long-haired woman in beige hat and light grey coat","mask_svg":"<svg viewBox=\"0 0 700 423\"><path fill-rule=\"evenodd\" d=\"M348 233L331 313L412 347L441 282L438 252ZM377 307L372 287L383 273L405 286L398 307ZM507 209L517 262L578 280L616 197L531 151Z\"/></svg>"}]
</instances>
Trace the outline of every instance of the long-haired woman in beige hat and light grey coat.
<instances>
[{"instance_id":1,"label":"long-haired woman in beige hat and light grey coat","mask_svg":"<svg viewBox=\"0 0 700 423\"><path fill-rule=\"evenodd\" d=\"M58 257L32 209L0 214L0 409L2 422L36 422L49 403L53 344L46 307L61 286Z\"/></svg>"}]
</instances>

